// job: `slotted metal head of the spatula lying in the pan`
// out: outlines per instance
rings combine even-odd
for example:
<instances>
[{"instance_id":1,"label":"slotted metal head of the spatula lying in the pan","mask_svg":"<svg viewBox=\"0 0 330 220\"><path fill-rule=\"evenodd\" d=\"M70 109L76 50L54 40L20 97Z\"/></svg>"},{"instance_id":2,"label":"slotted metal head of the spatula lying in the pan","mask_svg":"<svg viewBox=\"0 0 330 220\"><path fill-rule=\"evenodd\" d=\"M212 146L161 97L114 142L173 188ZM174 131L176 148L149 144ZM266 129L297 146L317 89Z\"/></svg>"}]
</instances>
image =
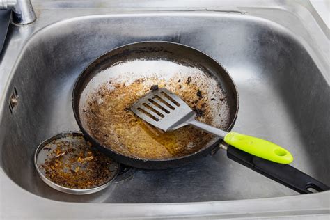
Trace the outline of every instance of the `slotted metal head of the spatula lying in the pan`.
<instances>
[{"instance_id":1,"label":"slotted metal head of the spatula lying in the pan","mask_svg":"<svg viewBox=\"0 0 330 220\"><path fill-rule=\"evenodd\" d=\"M166 88L158 88L141 97L132 105L131 110L136 116L165 132L187 125L187 121L196 116L178 95Z\"/></svg>"}]
</instances>

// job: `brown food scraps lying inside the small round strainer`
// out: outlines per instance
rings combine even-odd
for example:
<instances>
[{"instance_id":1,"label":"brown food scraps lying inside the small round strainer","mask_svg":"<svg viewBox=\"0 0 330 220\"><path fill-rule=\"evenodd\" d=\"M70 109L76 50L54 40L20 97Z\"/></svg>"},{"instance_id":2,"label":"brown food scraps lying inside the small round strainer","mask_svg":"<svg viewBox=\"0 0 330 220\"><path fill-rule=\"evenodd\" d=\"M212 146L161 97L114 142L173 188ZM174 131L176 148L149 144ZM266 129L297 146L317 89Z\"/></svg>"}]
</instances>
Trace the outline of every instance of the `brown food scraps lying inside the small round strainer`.
<instances>
[{"instance_id":1,"label":"brown food scraps lying inside the small round strainer","mask_svg":"<svg viewBox=\"0 0 330 220\"><path fill-rule=\"evenodd\" d=\"M71 136L71 141L58 139L45 148L50 154L39 165L45 177L70 189L90 189L105 184L113 177L109 168L112 160L94 150L82 136Z\"/></svg>"}]
</instances>

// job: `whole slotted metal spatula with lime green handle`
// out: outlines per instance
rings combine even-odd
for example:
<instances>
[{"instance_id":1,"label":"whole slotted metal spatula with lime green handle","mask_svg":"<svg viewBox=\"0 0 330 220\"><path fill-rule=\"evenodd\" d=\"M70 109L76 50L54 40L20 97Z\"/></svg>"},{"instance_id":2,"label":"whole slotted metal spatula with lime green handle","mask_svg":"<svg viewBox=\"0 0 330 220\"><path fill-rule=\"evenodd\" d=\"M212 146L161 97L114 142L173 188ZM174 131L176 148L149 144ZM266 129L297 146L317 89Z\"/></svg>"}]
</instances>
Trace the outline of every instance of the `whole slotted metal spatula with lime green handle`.
<instances>
[{"instance_id":1,"label":"whole slotted metal spatula with lime green handle","mask_svg":"<svg viewBox=\"0 0 330 220\"><path fill-rule=\"evenodd\" d=\"M164 132L171 132L185 125L194 125L205 132L219 136L231 146L251 155L280 164L289 164L293 161L290 152L275 143L236 132L225 132L195 120L195 111L178 95L171 93L166 88L158 88L141 97L132 105L131 110L136 116Z\"/></svg>"}]
</instances>

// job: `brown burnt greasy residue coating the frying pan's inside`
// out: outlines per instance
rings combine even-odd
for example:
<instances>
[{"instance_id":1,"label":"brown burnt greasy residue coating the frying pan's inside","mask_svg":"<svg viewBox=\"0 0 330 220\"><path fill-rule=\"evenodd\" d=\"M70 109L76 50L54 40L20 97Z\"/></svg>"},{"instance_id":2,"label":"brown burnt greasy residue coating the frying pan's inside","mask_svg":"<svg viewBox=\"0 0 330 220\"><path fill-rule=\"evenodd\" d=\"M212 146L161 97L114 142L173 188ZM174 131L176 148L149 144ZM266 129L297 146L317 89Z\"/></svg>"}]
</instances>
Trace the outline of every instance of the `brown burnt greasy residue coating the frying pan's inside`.
<instances>
[{"instance_id":1,"label":"brown burnt greasy residue coating the frying pan's inside","mask_svg":"<svg viewBox=\"0 0 330 220\"><path fill-rule=\"evenodd\" d=\"M102 146L122 155L156 160L190 155L204 148L214 136L191 126L164 133L135 116L129 108L150 92L150 88L164 87L187 102L196 111L197 120L226 129L228 104L225 95L219 87L213 88L215 94L210 93L207 81L201 86L198 83L201 80L205 79L196 75L179 75L166 80L155 77L136 79L130 84L108 81L86 100L82 111L84 124ZM223 116L217 112L221 107ZM219 116L217 121L214 115Z\"/></svg>"}]
</instances>

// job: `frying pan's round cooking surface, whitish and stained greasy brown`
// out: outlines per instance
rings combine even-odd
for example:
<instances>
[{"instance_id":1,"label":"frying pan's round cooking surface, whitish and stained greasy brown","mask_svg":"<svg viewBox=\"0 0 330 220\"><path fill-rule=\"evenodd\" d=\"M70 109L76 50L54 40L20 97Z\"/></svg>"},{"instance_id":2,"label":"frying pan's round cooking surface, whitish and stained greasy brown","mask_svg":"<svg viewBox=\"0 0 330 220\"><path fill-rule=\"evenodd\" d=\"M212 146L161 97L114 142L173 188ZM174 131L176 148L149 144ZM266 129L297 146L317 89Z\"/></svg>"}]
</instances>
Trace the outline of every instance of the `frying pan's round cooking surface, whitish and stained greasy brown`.
<instances>
[{"instance_id":1,"label":"frying pan's round cooking surface, whitish and stained greasy brown","mask_svg":"<svg viewBox=\"0 0 330 220\"><path fill-rule=\"evenodd\" d=\"M129 108L154 85L179 95L197 120L228 129L229 105L217 80L197 66L168 59L118 62L95 74L79 100L81 124L102 146L139 159L178 158L214 141L195 127L164 133L135 116Z\"/></svg>"}]
</instances>

